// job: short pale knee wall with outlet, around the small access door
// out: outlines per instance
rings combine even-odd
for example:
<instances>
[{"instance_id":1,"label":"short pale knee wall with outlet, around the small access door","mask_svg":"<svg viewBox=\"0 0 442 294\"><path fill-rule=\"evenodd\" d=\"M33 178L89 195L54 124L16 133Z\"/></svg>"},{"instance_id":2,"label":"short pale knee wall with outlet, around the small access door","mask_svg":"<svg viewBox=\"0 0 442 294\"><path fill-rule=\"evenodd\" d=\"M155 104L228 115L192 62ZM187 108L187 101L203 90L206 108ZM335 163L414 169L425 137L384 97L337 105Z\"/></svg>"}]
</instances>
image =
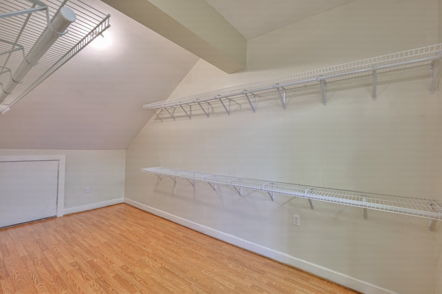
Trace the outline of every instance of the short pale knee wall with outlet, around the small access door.
<instances>
[{"instance_id":1,"label":"short pale knee wall with outlet, around the small access door","mask_svg":"<svg viewBox=\"0 0 442 294\"><path fill-rule=\"evenodd\" d=\"M74 213L122 202L125 150L13 150L0 155L66 155L64 211ZM90 193L86 193L90 186Z\"/></svg>"}]
</instances>

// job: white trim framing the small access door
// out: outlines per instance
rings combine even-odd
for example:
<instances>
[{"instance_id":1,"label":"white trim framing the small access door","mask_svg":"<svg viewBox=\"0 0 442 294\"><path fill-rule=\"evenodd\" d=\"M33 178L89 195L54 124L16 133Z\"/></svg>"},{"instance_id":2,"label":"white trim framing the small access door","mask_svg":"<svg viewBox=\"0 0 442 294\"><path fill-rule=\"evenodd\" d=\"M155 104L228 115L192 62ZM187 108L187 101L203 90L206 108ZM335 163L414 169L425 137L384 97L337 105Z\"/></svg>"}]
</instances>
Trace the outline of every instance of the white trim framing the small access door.
<instances>
[{"instance_id":1,"label":"white trim framing the small access door","mask_svg":"<svg viewBox=\"0 0 442 294\"><path fill-rule=\"evenodd\" d=\"M13 161L58 161L57 217L64 215L64 178L66 174L66 155L6 155L0 162Z\"/></svg>"}]
</instances>

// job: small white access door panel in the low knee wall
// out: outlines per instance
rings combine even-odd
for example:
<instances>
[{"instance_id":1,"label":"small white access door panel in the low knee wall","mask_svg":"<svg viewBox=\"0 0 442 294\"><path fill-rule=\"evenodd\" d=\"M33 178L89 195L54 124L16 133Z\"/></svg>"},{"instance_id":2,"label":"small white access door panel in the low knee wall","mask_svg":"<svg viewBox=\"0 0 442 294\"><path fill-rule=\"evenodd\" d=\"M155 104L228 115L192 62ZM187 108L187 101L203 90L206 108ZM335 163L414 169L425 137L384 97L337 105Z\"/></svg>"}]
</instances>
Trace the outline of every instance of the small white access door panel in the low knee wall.
<instances>
[{"instance_id":1,"label":"small white access door panel in the low knee wall","mask_svg":"<svg viewBox=\"0 0 442 294\"><path fill-rule=\"evenodd\" d=\"M59 161L0 161L0 228L57 215Z\"/></svg>"}]
</instances>

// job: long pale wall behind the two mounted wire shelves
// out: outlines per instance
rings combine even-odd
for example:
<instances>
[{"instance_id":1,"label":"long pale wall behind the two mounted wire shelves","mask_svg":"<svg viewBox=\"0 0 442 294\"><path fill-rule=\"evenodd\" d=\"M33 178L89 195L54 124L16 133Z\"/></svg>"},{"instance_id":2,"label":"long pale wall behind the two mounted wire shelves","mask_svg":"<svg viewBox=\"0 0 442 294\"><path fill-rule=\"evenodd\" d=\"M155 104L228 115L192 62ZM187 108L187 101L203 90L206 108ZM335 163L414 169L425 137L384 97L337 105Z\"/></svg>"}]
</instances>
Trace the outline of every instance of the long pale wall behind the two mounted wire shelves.
<instances>
[{"instance_id":1,"label":"long pale wall behind the two mounted wire shelves","mask_svg":"<svg viewBox=\"0 0 442 294\"><path fill-rule=\"evenodd\" d=\"M245 72L199 61L171 97L431 45L437 21L433 0L354 1L251 39ZM244 102L230 116L217 108L209 119L151 119L126 150L126 199L360 291L436 293L440 224L432 233L416 217L370 210L364 220L357 208L316 202L310 210L302 199L204 184L194 191L186 181L173 195L170 179L140 173L166 166L442 200L441 90L430 95L427 85L427 77L381 83L372 101L369 86L350 84L329 90L327 106L312 88L291 92L287 110L271 100L256 113Z\"/></svg>"}]
</instances>

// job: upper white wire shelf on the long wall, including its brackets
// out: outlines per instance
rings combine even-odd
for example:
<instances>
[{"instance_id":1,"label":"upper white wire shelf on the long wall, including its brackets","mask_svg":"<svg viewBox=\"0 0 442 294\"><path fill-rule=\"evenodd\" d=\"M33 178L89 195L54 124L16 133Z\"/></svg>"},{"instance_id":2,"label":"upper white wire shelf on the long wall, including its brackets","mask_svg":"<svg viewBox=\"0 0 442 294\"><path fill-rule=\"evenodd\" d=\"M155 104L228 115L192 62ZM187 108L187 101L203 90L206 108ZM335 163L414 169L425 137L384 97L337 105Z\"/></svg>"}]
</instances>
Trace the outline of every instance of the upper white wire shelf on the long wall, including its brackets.
<instances>
[{"instance_id":1,"label":"upper white wire shelf on the long wall, including its brackets","mask_svg":"<svg viewBox=\"0 0 442 294\"><path fill-rule=\"evenodd\" d=\"M387 72L401 72L403 70L422 67L430 69L425 70L425 74L427 75L427 72L430 72L430 92L434 93L438 84L439 63L441 57L442 44L436 44L423 48L396 52L390 55L344 63L338 66L300 72L286 77L267 79L256 83L204 92L198 95L145 104L143 108L153 110L157 118L161 121L164 119L163 116L160 116L163 111L166 113L166 118L169 117L175 120L175 110L177 109L182 110L186 117L191 119L193 106L200 108L206 117L209 117L211 103L218 102L230 115L231 100L246 99L251 106L251 110L256 112L257 96L265 95L269 92L276 92L276 95L273 96L280 99L282 108L285 109L287 107L287 90L296 90L296 88L304 88L307 86L319 86L323 104L326 105L327 83L369 76L372 77L370 80L370 83L372 84L372 99L376 99L378 77L385 76ZM422 71L419 72L419 75L421 74Z\"/></svg>"}]
</instances>

